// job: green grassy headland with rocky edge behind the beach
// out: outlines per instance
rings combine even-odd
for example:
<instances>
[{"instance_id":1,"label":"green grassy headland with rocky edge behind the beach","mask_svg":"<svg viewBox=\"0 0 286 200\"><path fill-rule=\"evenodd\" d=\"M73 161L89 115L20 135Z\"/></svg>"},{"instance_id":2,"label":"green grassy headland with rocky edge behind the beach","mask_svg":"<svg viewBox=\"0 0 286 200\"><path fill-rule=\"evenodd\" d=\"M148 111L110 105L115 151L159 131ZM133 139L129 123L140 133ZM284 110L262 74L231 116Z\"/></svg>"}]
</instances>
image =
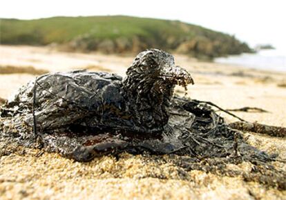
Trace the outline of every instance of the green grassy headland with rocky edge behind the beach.
<instances>
[{"instance_id":1,"label":"green grassy headland with rocky edge behind the beach","mask_svg":"<svg viewBox=\"0 0 286 200\"><path fill-rule=\"evenodd\" d=\"M65 50L107 53L139 52L162 48L195 57L218 57L251 52L246 43L180 21L138 17L52 17L1 19L3 44L59 44Z\"/></svg>"}]
</instances>

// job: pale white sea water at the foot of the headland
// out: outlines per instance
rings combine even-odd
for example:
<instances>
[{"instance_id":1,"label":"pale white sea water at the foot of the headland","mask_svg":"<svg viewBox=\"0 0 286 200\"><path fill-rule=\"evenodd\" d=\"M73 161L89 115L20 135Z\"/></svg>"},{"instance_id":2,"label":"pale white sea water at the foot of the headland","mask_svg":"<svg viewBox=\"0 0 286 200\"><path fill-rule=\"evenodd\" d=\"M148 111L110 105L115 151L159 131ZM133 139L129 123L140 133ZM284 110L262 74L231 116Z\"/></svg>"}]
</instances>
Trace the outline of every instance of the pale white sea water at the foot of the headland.
<instances>
[{"instance_id":1,"label":"pale white sea water at the foot of the headland","mask_svg":"<svg viewBox=\"0 0 286 200\"><path fill-rule=\"evenodd\" d=\"M214 61L245 68L286 72L286 49L260 50L254 54L247 53L238 56L220 57Z\"/></svg>"}]
</instances>

